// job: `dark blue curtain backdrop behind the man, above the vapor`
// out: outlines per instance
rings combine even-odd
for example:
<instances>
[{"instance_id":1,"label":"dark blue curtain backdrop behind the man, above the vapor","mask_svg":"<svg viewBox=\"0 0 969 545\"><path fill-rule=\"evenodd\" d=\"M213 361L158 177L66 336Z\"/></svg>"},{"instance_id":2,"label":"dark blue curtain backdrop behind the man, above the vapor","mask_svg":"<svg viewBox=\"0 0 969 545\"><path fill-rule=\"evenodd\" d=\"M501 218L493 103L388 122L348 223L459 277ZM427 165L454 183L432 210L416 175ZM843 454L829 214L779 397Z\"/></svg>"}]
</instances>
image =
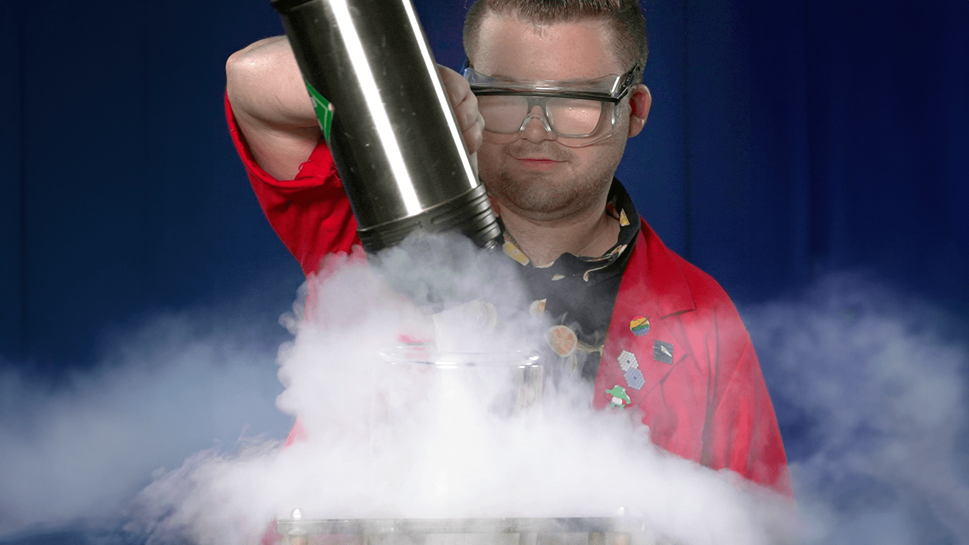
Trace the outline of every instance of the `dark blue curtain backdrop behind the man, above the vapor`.
<instances>
[{"instance_id":1,"label":"dark blue curtain backdrop behind the man, above the vapor","mask_svg":"<svg viewBox=\"0 0 969 545\"><path fill-rule=\"evenodd\" d=\"M456 67L463 3L417 5ZM618 176L672 248L741 306L862 268L969 307L969 2L644 7L654 107ZM279 33L267 0L0 2L0 358L83 367L164 309L289 305L222 112L226 57Z\"/></svg>"}]
</instances>

